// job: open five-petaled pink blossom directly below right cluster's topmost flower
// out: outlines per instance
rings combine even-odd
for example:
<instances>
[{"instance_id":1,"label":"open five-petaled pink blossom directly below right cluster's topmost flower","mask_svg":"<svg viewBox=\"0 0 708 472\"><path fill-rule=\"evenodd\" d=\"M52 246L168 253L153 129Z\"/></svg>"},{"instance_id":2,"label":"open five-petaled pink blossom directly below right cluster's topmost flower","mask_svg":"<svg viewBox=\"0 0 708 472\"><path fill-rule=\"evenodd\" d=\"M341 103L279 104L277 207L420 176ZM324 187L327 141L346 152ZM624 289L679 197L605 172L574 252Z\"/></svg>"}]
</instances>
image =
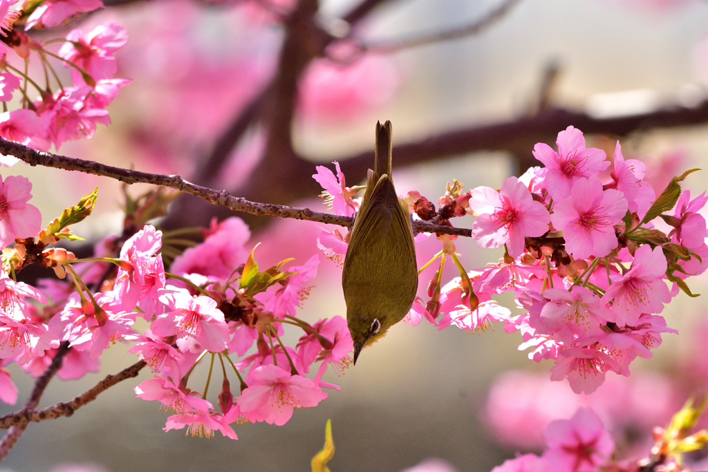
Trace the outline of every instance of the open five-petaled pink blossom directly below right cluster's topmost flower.
<instances>
[{"instance_id":1,"label":"open five-petaled pink blossom directly below right cluster's topmost flower","mask_svg":"<svg viewBox=\"0 0 708 472\"><path fill-rule=\"evenodd\" d=\"M615 224L627 213L627 199L618 190L604 190L595 177L579 178L570 197L553 207L551 221L564 231L566 251L576 259L604 257L617 248Z\"/></svg>"}]
</instances>

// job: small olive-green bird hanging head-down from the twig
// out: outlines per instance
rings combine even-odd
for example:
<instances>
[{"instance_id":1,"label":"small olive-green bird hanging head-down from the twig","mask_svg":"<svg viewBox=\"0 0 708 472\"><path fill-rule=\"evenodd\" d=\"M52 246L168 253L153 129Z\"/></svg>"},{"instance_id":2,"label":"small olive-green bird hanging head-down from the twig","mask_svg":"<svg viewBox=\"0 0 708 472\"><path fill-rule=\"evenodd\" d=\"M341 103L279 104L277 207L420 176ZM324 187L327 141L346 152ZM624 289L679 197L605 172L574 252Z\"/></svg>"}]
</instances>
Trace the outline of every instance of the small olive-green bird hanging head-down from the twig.
<instances>
[{"instance_id":1,"label":"small olive-green bird hanging head-down from the twig","mask_svg":"<svg viewBox=\"0 0 708 472\"><path fill-rule=\"evenodd\" d=\"M391 122L377 122L374 170L344 258L342 289L355 364L363 347L406 316L418 289L411 217L391 179L391 139Z\"/></svg>"}]
</instances>

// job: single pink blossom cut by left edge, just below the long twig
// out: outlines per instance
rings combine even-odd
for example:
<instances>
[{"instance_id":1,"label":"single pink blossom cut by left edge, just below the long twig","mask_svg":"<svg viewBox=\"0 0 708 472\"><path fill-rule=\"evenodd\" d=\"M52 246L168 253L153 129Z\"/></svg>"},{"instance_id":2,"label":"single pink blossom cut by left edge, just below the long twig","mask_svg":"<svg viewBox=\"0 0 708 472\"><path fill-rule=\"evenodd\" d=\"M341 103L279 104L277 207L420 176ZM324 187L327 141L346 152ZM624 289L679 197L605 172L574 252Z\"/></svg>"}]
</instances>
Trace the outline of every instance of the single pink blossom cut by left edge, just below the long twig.
<instances>
[{"instance_id":1,"label":"single pink blossom cut by left edge, just below the long twig","mask_svg":"<svg viewBox=\"0 0 708 472\"><path fill-rule=\"evenodd\" d=\"M37 207L28 204L31 190L26 177L9 175L3 182L0 176L0 247L8 246L15 238L30 238L40 232L42 215Z\"/></svg>"}]
</instances>

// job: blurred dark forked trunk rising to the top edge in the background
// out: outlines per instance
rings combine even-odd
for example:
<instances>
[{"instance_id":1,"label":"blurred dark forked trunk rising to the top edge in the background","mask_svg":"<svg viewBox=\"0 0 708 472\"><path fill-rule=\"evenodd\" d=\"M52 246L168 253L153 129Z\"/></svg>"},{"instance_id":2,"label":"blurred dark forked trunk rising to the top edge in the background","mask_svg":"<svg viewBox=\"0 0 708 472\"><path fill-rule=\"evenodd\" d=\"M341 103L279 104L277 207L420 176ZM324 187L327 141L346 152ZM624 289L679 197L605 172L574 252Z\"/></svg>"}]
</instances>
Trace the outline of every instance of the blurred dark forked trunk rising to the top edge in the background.
<instances>
[{"instance_id":1,"label":"blurred dark forked trunk rising to the top edge in the background","mask_svg":"<svg viewBox=\"0 0 708 472\"><path fill-rule=\"evenodd\" d=\"M363 0L348 13L343 21L353 26L378 6L391 0ZM312 59L322 57L334 38L316 21L319 8L317 0L300 0L283 25L285 40L280 51L278 68L263 96L259 96L232 121L204 166L195 175L202 185L213 185L214 177L222 172L224 163L232 154L249 126L260 124L266 135L263 158L244 185L232 189L250 200L261 202L292 202L302 195L314 195L318 187L311 175L312 163L297 156L292 148L292 119L297 102L297 86ZM304 193L303 193L304 192ZM171 214L164 221L167 228L202 224L212 216L225 217L224 212L206 207L195 200L178 199L171 207ZM263 224L253 220L250 224Z\"/></svg>"}]
</instances>

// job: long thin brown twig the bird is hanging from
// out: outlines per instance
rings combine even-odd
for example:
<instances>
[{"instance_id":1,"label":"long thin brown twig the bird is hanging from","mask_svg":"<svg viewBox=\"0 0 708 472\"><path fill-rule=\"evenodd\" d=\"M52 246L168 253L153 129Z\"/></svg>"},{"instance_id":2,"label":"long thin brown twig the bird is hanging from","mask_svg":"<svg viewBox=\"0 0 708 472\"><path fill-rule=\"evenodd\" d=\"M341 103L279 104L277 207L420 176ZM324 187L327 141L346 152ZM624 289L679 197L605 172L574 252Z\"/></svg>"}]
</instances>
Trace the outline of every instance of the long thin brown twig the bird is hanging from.
<instances>
[{"instance_id":1,"label":"long thin brown twig the bird is hanging from","mask_svg":"<svg viewBox=\"0 0 708 472\"><path fill-rule=\"evenodd\" d=\"M287 207L285 205L273 205L270 203L249 202L245 198L234 197L226 190L214 190L202 187L184 180L179 175L163 175L141 171L133 171L114 166L106 166L94 161L75 159L67 156L59 156L49 152L40 152L23 144L7 141L0 138L0 154L15 156L30 166L45 166L64 169L66 171L79 171L94 175L115 178L120 182L150 183L163 187L175 188L181 192L186 192L202 200L210 202L212 205L224 205L236 212L245 212L260 216L307 219L308 221L318 221L319 223L336 224L338 226L351 226L353 219L342 217L336 214L313 212L309 208ZM413 228L418 233L439 233L454 234L457 236L472 236L469 229L451 228L449 226L435 226L426 221L414 221Z\"/></svg>"}]
</instances>

